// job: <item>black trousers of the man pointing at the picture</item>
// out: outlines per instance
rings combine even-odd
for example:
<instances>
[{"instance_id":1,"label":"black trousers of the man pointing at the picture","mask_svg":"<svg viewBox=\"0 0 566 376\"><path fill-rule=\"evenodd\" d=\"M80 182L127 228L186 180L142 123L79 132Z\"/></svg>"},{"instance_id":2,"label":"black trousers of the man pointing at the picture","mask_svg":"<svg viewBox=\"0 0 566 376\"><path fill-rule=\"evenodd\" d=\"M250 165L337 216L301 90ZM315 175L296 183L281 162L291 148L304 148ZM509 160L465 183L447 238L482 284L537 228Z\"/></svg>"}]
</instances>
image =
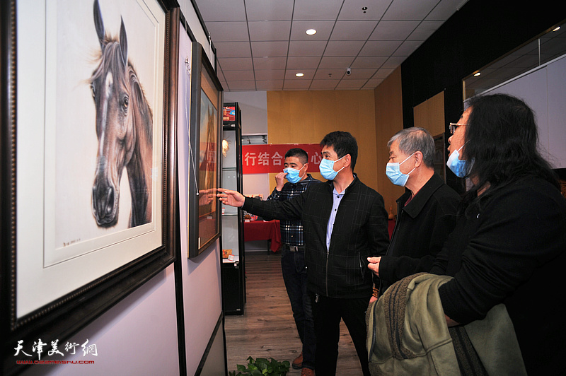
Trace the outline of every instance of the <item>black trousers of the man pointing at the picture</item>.
<instances>
[{"instance_id":1,"label":"black trousers of the man pointing at the picture","mask_svg":"<svg viewBox=\"0 0 566 376\"><path fill-rule=\"evenodd\" d=\"M338 299L319 295L318 302L316 302L316 297L311 294L311 299L313 299L316 334L316 375L333 376L336 374L340 319L342 319L352 337L362 371L364 375L369 376L366 349L366 310L369 305L369 297Z\"/></svg>"}]
</instances>

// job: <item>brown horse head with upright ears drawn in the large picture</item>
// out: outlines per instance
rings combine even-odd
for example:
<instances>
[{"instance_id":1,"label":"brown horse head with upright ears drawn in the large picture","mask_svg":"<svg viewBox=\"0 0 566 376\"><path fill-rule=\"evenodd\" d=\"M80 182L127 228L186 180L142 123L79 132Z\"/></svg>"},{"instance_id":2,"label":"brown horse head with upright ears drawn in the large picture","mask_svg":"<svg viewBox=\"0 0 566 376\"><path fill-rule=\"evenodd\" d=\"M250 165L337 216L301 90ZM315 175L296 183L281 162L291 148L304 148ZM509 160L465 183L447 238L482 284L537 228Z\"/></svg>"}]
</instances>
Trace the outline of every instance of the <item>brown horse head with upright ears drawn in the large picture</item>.
<instances>
[{"instance_id":1,"label":"brown horse head with upright ears drawn in the large picture","mask_svg":"<svg viewBox=\"0 0 566 376\"><path fill-rule=\"evenodd\" d=\"M90 78L98 137L93 216L100 227L116 225L120 179L126 168L132 196L131 228L151 221L153 117L128 60L124 20L119 39L106 35L100 6L95 0L94 25L100 42L100 61Z\"/></svg>"}]
</instances>

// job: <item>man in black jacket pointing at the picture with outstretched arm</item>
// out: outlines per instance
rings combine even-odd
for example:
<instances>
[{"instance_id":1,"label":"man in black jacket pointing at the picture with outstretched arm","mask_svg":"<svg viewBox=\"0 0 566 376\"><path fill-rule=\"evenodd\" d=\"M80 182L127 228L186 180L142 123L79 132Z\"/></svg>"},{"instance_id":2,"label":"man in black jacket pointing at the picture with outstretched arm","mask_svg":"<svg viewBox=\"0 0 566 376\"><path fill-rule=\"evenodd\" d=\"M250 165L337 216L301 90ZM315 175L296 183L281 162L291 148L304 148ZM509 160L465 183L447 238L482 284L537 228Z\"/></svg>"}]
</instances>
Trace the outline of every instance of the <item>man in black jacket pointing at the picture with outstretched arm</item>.
<instances>
[{"instance_id":1,"label":"man in black jacket pointing at the picture with outstretched arm","mask_svg":"<svg viewBox=\"0 0 566 376\"><path fill-rule=\"evenodd\" d=\"M320 173L328 182L313 184L294 199L260 201L219 189L224 204L242 206L264 218L300 219L304 228L308 290L313 297L316 373L335 375L343 319L364 375L369 375L365 312L372 278L366 259L388 245L387 212L381 194L354 175L357 142L335 131L320 142Z\"/></svg>"}]
</instances>

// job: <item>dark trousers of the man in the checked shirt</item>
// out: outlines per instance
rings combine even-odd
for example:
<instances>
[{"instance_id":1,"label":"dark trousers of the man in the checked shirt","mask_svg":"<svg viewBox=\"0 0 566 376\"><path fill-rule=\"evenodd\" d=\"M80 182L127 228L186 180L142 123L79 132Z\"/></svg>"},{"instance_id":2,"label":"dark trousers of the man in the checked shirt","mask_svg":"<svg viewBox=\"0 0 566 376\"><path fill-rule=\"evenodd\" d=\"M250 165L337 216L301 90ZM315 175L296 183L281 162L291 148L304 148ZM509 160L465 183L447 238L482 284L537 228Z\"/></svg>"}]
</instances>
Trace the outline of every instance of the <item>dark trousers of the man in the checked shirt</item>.
<instances>
[{"instance_id":1,"label":"dark trousers of the man in the checked shirt","mask_svg":"<svg viewBox=\"0 0 566 376\"><path fill-rule=\"evenodd\" d=\"M306 290L305 252L282 249L281 269L287 295L291 301L296 330L303 343L303 367L314 369L316 339L311 297Z\"/></svg>"}]
</instances>

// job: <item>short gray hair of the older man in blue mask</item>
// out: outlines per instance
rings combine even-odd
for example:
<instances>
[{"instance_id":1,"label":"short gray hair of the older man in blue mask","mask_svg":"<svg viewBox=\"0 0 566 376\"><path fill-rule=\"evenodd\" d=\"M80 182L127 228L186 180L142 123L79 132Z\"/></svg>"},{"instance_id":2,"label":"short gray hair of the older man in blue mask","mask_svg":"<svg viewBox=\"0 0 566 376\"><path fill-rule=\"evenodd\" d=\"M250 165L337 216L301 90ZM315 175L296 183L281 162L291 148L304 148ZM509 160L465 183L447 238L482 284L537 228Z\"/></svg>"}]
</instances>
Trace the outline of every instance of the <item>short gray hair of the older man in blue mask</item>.
<instances>
[{"instance_id":1,"label":"short gray hair of the older man in blue mask","mask_svg":"<svg viewBox=\"0 0 566 376\"><path fill-rule=\"evenodd\" d=\"M427 129L410 127L398 131L391 137L387 147L391 148L391 144L395 141L399 141L399 150L407 155L420 151L424 165L434 168L434 139Z\"/></svg>"}]
</instances>

